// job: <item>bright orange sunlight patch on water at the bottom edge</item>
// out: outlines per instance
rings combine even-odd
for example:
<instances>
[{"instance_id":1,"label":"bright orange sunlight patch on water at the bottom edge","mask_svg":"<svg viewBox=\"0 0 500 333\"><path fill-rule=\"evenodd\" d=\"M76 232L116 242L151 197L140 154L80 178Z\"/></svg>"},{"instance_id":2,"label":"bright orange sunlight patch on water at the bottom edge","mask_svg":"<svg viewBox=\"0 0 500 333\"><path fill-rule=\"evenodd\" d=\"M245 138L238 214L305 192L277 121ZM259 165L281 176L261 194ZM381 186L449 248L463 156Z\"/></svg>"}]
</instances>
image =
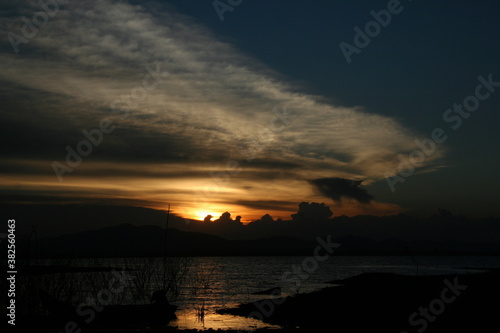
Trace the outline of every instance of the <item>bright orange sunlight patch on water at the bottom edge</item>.
<instances>
[{"instance_id":1,"label":"bright orange sunlight patch on water at the bottom edge","mask_svg":"<svg viewBox=\"0 0 500 333\"><path fill-rule=\"evenodd\" d=\"M204 320L199 320L194 310L179 310L176 312L177 319L170 322L169 326L178 329L221 329L221 330L256 330L259 328L280 329L280 326L270 325L260 320L232 315L220 315L217 313L206 313Z\"/></svg>"}]
</instances>

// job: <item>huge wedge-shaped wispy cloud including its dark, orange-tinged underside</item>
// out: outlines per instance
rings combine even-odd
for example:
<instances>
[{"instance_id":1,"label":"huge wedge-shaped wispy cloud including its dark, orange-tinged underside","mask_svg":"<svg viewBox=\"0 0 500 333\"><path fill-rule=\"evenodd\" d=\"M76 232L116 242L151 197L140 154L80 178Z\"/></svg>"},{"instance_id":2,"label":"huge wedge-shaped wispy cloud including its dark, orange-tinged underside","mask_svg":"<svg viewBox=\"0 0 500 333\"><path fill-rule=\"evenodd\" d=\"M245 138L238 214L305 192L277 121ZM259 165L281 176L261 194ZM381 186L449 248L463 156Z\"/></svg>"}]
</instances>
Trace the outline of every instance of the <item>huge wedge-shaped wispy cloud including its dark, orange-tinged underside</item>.
<instances>
[{"instance_id":1,"label":"huge wedge-shaped wispy cloud including its dark, orange-tinged underside","mask_svg":"<svg viewBox=\"0 0 500 333\"><path fill-rule=\"evenodd\" d=\"M26 10L19 15L27 15ZM12 11L3 19L2 34L19 29L20 17ZM304 181L304 190L305 180L312 178L369 183L395 170L398 155L415 148L417 135L394 119L300 93L300 87L283 82L272 69L218 40L193 19L161 7L70 2L25 52L9 52L6 44L2 50L3 129L8 135L13 126L24 130L23 140L3 147L2 153L24 163L19 173L29 173L31 167L47 177L52 174L54 182L50 162L63 160L64 147L75 145L82 129L96 127L104 117L112 117L117 130L84 162L89 167L71 177L101 177L110 169L123 177L169 173L154 166L131 172L122 165L141 161L164 163L172 170L184 165L184 172L194 173L192 179L203 181L209 177L202 172L230 159L245 160L259 130L272 119L272 110L284 105L294 121L260 151L260 163L248 163L252 170L234 177L231 186L244 192L254 179L277 182L277 172ZM120 119L113 102L130 95L141 84L145 68L154 64L168 76L135 105L120 104L118 111L128 115ZM33 153L38 162L46 161L44 172L32 161ZM439 158L435 154L426 163ZM171 174L180 177L177 172ZM277 198L287 197L281 184L274 192ZM254 194L241 199L255 200Z\"/></svg>"}]
</instances>

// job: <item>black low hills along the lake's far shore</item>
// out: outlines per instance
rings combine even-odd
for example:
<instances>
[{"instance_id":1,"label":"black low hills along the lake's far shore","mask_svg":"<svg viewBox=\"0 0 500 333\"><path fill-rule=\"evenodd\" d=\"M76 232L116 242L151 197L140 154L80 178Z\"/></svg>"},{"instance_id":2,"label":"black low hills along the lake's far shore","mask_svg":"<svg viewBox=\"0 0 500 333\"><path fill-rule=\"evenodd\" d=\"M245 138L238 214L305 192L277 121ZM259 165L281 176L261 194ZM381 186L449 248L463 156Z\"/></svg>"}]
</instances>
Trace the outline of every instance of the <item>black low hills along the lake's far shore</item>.
<instances>
[{"instance_id":1,"label":"black low hills along the lake's far shore","mask_svg":"<svg viewBox=\"0 0 500 333\"><path fill-rule=\"evenodd\" d=\"M328 235L321 235L326 239ZM464 255L500 254L500 242L460 243L437 241L375 241L354 236L332 237L341 244L336 255ZM113 227L46 237L34 244L19 242L20 254L41 257L148 257L165 253L165 229L158 226L122 224ZM316 240L291 237L269 237L255 240L228 240L198 232L168 229L169 256L254 256L311 255ZM35 253L35 248L38 250ZM30 249L30 250L26 250Z\"/></svg>"}]
</instances>

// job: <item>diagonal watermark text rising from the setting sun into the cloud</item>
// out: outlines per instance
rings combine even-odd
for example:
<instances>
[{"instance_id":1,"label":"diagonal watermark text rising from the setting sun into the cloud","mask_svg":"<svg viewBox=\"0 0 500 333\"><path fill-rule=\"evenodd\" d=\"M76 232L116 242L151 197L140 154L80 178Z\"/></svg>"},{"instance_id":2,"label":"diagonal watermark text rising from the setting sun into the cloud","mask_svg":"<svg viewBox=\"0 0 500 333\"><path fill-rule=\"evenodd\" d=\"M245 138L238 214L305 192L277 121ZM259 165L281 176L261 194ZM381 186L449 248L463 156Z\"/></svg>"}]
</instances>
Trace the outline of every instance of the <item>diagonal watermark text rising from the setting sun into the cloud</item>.
<instances>
[{"instance_id":1,"label":"diagonal watermark text rising from the setting sun into the cloud","mask_svg":"<svg viewBox=\"0 0 500 333\"><path fill-rule=\"evenodd\" d=\"M272 142L276 141L276 135L282 132L296 117L293 114L288 113L286 106L283 107L282 111L277 108L272 110L273 117L269 120L267 126L261 126L257 131L257 135L252 137L249 144L248 151L241 151L243 158L246 162L251 163L266 147L268 147ZM218 194L224 187L228 186L231 182L231 177L237 176L241 173L241 162L236 160L229 160L222 170L209 172L210 181L202 186L201 189L194 191L194 203L196 206L203 209L208 208L210 198ZM189 220L185 219L186 224L189 224Z\"/></svg>"}]
</instances>

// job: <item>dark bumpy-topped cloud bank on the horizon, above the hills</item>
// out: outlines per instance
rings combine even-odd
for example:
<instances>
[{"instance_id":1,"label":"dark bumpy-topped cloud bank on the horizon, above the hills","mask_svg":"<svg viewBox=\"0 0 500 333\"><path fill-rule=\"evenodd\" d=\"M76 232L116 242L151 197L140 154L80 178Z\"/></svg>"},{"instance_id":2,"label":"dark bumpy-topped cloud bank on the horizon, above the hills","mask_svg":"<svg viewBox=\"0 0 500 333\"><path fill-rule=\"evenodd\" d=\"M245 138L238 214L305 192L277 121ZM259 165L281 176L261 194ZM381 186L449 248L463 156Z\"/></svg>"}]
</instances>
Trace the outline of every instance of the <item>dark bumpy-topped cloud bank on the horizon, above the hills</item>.
<instances>
[{"instance_id":1,"label":"dark bumpy-topped cloud bank on the horizon, above the hills","mask_svg":"<svg viewBox=\"0 0 500 333\"><path fill-rule=\"evenodd\" d=\"M106 205L6 205L0 212L15 218L18 237L38 238L61 236L91 229L132 224L164 227L166 212L142 207ZM333 212L334 213L334 212ZM270 237L291 237L313 241L318 235L335 237L349 235L376 241L402 239L405 241L440 241L462 243L493 243L500 239L500 219L489 217L471 219L455 216L440 209L427 218L405 214L390 216L336 216L324 204L300 203L291 219L274 219L269 214L249 224L241 218L223 212L219 218L205 221L185 219L175 211L170 214L169 226L186 232L198 232L228 240L257 240Z\"/></svg>"}]
</instances>

